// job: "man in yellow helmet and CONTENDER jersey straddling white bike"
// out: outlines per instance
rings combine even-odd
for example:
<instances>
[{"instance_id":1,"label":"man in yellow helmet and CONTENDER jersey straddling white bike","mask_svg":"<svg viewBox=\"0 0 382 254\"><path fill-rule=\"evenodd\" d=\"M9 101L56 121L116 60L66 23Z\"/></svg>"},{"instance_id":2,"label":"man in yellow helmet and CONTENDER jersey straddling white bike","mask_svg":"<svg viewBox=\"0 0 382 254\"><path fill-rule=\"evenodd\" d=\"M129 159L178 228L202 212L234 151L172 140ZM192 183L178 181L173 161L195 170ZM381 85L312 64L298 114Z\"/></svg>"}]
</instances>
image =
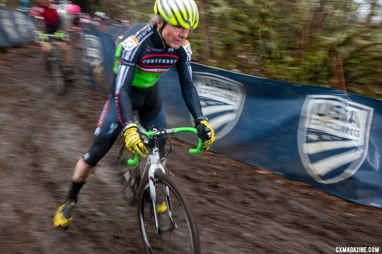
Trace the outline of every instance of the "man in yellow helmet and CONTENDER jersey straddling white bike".
<instances>
[{"instance_id":1,"label":"man in yellow helmet and CONTENDER jersey straddling white bike","mask_svg":"<svg viewBox=\"0 0 382 254\"><path fill-rule=\"evenodd\" d=\"M167 6L168 8L164 8ZM199 14L194 0L157 0L149 24L129 28L116 50L115 82L95 129L95 138L87 153L77 162L67 199L54 215L54 225L66 227L73 218L73 208L81 187L92 176L97 162L107 153L121 130L126 147L146 157L133 118L138 110L144 128L150 125L167 127L165 109L157 79L175 65L186 106L194 118L197 135L204 150L214 142L215 133L203 116L199 96L191 75L191 47L186 40L196 28ZM160 158L165 156L165 138L159 140Z\"/></svg>"}]
</instances>

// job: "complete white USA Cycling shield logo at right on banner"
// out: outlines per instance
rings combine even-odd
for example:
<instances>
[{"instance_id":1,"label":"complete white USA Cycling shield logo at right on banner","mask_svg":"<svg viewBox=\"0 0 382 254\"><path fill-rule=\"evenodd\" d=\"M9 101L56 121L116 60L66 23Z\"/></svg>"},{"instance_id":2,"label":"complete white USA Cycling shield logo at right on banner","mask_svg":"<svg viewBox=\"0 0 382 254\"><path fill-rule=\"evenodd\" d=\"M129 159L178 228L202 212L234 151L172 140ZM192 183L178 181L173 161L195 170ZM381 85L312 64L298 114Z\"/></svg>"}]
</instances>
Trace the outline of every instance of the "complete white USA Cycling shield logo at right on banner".
<instances>
[{"instance_id":1,"label":"complete white USA Cycling shield logo at right on banner","mask_svg":"<svg viewBox=\"0 0 382 254\"><path fill-rule=\"evenodd\" d=\"M337 183L359 169L369 148L373 111L341 96L306 96L299 121L298 151L314 180Z\"/></svg>"}]
</instances>

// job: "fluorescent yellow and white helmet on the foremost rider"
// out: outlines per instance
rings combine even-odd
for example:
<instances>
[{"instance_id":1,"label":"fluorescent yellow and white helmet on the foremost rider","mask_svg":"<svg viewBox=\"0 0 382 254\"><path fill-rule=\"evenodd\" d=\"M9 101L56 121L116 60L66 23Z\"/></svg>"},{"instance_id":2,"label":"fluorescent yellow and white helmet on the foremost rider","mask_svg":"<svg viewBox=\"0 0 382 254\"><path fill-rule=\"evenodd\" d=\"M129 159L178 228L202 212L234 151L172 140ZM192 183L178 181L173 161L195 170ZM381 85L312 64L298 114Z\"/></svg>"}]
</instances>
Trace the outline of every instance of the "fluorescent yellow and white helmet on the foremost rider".
<instances>
[{"instance_id":1,"label":"fluorescent yellow and white helmet on the foremost rider","mask_svg":"<svg viewBox=\"0 0 382 254\"><path fill-rule=\"evenodd\" d=\"M173 26L194 29L199 23L199 12L194 0L155 0L154 13Z\"/></svg>"}]
</instances>

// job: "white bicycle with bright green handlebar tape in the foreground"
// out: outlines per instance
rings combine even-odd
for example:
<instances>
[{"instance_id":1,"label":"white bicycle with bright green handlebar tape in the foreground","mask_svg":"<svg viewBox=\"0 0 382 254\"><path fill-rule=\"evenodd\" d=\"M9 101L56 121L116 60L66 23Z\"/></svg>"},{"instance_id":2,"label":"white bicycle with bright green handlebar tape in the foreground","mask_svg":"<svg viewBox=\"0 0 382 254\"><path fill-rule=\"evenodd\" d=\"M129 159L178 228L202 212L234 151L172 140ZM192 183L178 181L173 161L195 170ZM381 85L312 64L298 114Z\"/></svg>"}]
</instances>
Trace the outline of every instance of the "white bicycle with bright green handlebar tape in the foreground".
<instances>
[{"instance_id":1,"label":"white bicycle with bright green handlebar tape in the foreground","mask_svg":"<svg viewBox=\"0 0 382 254\"><path fill-rule=\"evenodd\" d=\"M119 159L119 162L124 161L128 165L123 173L127 185L125 195L132 203L138 204L139 230L147 253L200 253L199 235L191 207L175 183L173 173L163 165L171 152L171 142L168 154L159 158L159 138L180 132L196 133L196 129L155 129L151 126L148 132L143 133L141 138L150 148L143 172L141 157L136 155L134 159L127 160L122 155ZM189 153L196 154L201 149L202 140L199 138L197 148L190 149ZM127 150L126 147L124 150ZM127 189L129 191L126 193ZM167 211L157 211L158 206L165 206Z\"/></svg>"}]
</instances>

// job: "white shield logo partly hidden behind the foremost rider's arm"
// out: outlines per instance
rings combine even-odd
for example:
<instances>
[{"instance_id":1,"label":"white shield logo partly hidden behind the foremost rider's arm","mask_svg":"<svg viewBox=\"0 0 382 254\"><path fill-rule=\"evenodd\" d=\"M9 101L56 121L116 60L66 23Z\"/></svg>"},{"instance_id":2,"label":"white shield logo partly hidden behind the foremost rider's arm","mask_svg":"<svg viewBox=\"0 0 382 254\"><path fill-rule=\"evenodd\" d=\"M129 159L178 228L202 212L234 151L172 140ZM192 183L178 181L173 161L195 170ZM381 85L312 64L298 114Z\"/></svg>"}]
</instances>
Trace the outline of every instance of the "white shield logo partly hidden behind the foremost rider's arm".
<instances>
[{"instance_id":1,"label":"white shield logo partly hidden behind the foremost rider's arm","mask_svg":"<svg viewBox=\"0 0 382 254\"><path fill-rule=\"evenodd\" d=\"M233 129L241 115L246 97L244 85L207 72L193 72L193 75L203 114L218 140Z\"/></svg>"}]
</instances>

